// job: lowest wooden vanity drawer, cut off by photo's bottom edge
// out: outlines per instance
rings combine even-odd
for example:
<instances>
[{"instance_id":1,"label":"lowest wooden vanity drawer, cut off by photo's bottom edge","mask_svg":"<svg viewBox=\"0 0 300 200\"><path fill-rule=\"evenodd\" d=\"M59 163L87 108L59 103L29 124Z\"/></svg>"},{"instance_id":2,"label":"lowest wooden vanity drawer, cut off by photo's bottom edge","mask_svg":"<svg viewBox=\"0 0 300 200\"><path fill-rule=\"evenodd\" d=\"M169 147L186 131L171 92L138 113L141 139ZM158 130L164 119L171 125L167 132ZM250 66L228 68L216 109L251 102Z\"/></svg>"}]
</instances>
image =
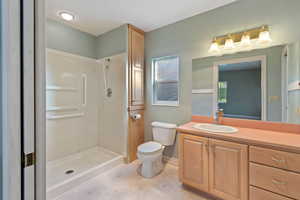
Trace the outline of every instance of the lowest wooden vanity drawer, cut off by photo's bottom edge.
<instances>
[{"instance_id":1,"label":"lowest wooden vanity drawer, cut off by photo's bottom edge","mask_svg":"<svg viewBox=\"0 0 300 200\"><path fill-rule=\"evenodd\" d=\"M292 200L278 194L250 186L250 200Z\"/></svg>"}]
</instances>

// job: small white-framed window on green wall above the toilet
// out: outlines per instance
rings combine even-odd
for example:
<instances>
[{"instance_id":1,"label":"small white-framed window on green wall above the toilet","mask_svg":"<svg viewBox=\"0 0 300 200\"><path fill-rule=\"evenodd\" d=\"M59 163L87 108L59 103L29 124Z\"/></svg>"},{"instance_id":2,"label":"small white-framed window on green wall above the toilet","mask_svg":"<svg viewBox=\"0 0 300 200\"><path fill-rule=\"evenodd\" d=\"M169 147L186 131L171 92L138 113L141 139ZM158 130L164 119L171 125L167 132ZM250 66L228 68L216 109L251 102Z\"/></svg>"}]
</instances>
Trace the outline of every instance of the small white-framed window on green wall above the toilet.
<instances>
[{"instance_id":1,"label":"small white-framed window on green wall above the toilet","mask_svg":"<svg viewBox=\"0 0 300 200\"><path fill-rule=\"evenodd\" d=\"M152 60L153 104L178 106L179 58L161 57Z\"/></svg>"}]
</instances>

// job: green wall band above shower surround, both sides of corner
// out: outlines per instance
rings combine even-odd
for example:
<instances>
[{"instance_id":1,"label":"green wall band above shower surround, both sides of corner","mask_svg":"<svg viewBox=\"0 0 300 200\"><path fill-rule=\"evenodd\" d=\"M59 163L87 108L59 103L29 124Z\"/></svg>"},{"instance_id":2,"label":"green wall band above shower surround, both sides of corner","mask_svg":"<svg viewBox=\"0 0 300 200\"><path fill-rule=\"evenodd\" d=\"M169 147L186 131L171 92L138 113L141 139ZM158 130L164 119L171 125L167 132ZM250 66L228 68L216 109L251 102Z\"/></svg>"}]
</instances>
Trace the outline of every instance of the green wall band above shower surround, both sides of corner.
<instances>
[{"instance_id":1,"label":"green wall band above shower surround, both sides of corner","mask_svg":"<svg viewBox=\"0 0 300 200\"><path fill-rule=\"evenodd\" d=\"M98 37L47 19L47 47L89 58L100 59L127 51L127 25Z\"/></svg>"}]
</instances>

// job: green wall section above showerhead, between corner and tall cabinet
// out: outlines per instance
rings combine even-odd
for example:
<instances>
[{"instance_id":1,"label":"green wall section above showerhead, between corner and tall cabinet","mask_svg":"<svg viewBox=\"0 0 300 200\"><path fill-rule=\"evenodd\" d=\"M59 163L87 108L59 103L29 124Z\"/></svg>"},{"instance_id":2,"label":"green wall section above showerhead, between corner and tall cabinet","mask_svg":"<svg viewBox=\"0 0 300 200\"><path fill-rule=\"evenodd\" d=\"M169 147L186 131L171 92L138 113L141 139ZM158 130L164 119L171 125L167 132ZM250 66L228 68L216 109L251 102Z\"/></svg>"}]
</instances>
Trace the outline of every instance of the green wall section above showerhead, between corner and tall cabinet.
<instances>
[{"instance_id":1,"label":"green wall section above showerhead, between corner and tall cabinet","mask_svg":"<svg viewBox=\"0 0 300 200\"><path fill-rule=\"evenodd\" d=\"M104 58L127 51L127 25L120 26L97 37L97 58Z\"/></svg>"}]
</instances>

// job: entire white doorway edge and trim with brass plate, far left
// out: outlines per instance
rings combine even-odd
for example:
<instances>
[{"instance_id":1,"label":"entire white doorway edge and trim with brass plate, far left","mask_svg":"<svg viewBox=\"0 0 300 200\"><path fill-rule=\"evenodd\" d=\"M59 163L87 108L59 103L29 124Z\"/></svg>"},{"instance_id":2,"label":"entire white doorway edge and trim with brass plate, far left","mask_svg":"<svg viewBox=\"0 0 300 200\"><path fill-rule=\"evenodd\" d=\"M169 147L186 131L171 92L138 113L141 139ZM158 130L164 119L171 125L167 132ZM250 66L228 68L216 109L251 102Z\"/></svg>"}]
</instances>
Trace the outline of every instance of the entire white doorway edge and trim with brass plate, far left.
<instances>
[{"instance_id":1,"label":"entire white doorway edge and trim with brass plate, far left","mask_svg":"<svg viewBox=\"0 0 300 200\"><path fill-rule=\"evenodd\" d=\"M0 4L0 199L44 200L44 0Z\"/></svg>"}]
</instances>

